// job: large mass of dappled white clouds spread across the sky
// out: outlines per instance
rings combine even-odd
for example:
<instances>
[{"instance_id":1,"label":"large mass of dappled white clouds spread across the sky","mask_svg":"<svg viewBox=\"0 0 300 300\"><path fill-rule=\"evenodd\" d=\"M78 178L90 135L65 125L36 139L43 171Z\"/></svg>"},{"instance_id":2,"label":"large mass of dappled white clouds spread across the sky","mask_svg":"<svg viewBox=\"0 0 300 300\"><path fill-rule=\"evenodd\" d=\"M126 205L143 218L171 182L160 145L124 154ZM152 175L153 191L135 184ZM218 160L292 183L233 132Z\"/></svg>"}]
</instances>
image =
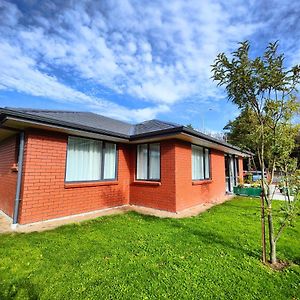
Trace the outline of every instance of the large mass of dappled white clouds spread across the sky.
<instances>
[{"instance_id":1,"label":"large mass of dappled white clouds spread across the sky","mask_svg":"<svg viewBox=\"0 0 300 300\"><path fill-rule=\"evenodd\" d=\"M155 117L185 99L220 98L210 79L216 54L264 25L237 0L55 3L43 1L21 18L20 8L0 0L1 88L107 107L127 119ZM135 98L143 108L79 92L53 68Z\"/></svg>"}]
</instances>

